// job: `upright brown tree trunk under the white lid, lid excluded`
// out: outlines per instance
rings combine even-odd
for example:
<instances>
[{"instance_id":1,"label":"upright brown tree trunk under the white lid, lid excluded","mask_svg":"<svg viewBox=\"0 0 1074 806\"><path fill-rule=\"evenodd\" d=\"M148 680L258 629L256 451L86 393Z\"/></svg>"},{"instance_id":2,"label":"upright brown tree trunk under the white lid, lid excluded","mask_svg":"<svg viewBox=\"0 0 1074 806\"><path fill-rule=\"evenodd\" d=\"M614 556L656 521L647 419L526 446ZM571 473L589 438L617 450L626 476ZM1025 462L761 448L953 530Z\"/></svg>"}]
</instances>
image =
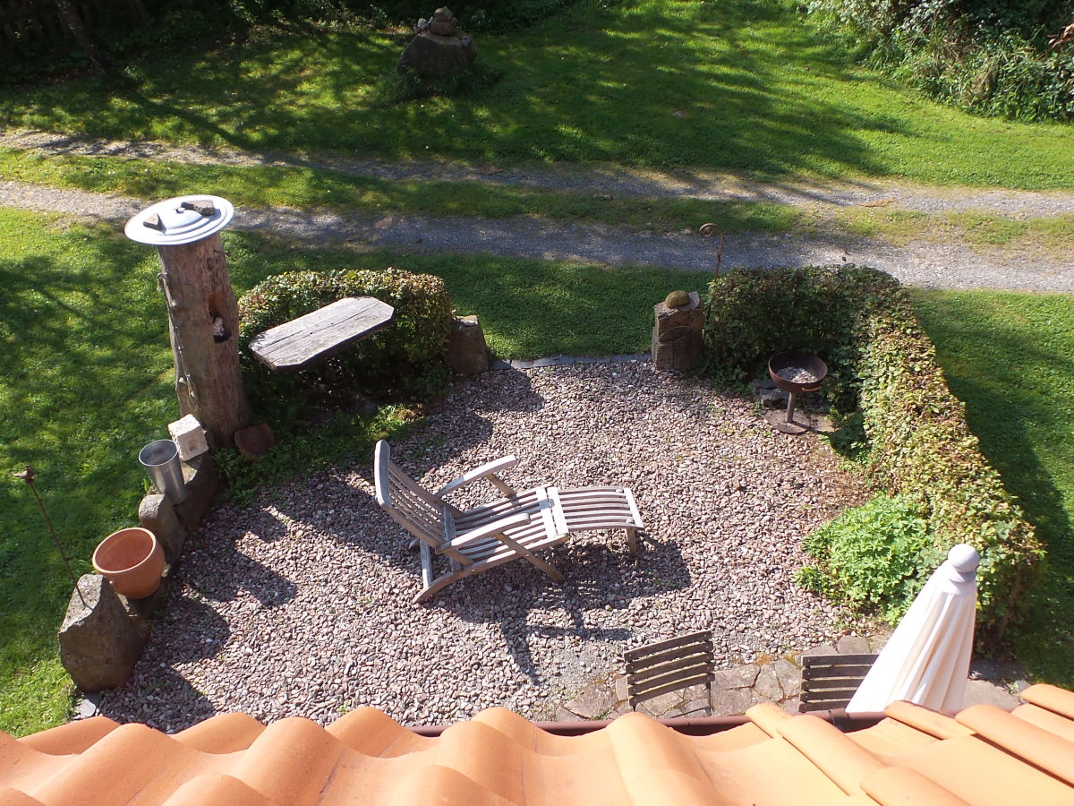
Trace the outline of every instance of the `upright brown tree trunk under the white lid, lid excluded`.
<instances>
[{"instance_id":1,"label":"upright brown tree trunk under the white lid, lid excluded","mask_svg":"<svg viewBox=\"0 0 1074 806\"><path fill-rule=\"evenodd\" d=\"M234 445L251 415L238 368L238 304L220 235L160 245L157 253L179 412L198 418L212 447Z\"/></svg>"}]
</instances>

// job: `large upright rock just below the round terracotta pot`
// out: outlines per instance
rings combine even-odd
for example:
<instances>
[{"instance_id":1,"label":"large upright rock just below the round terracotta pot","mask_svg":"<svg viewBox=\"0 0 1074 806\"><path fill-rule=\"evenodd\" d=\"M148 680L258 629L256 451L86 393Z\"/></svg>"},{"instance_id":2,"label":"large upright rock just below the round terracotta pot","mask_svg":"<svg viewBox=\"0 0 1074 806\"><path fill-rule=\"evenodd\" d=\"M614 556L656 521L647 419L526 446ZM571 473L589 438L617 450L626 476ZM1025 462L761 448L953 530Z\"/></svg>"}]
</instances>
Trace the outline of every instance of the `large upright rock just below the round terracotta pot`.
<instances>
[{"instance_id":1,"label":"large upright rock just below the round terracotta pot","mask_svg":"<svg viewBox=\"0 0 1074 806\"><path fill-rule=\"evenodd\" d=\"M85 574L60 627L60 663L83 691L122 686L148 635L145 622L124 606L104 577Z\"/></svg>"}]
</instances>

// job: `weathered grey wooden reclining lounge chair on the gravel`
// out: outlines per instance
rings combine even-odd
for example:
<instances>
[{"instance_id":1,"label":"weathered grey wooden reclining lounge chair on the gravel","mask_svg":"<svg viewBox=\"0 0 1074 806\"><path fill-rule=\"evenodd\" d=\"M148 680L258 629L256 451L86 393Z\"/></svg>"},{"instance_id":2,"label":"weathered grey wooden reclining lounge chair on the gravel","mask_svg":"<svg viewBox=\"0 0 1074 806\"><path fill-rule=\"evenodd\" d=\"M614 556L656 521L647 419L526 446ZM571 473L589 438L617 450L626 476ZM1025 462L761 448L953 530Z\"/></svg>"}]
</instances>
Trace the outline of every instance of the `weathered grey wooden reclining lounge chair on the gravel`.
<instances>
[{"instance_id":1,"label":"weathered grey wooden reclining lounge chair on the gravel","mask_svg":"<svg viewBox=\"0 0 1074 806\"><path fill-rule=\"evenodd\" d=\"M630 556L637 555L637 531L643 524L629 490L537 487L517 492L498 475L517 462L513 456L497 459L430 492L392 461L387 442L377 443L377 503L413 535L421 548L422 590L415 601L424 602L456 579L518 558L562 584L563 574L537 555L567 539L572 532L624 529ZM452 490L481 478L488 479L502 496L465 512L444 500ZM449 570L435 578L434 553L442 555L449 564Z\"/></svg>"}]
</instances>

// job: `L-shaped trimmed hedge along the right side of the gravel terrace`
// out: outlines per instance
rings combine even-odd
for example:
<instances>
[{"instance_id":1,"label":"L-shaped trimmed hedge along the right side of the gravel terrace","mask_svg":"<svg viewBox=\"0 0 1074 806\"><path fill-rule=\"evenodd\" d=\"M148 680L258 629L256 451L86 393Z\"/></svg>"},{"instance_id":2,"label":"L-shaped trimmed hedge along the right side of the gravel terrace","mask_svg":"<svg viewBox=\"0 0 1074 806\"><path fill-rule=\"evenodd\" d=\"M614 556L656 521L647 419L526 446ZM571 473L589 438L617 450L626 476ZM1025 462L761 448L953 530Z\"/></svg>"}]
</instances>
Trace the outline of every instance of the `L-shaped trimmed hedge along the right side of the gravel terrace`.
<instances>
[{"instance_id":1,"label":"L-shaped trimmed hedge along the right side of the gravel terrace","mask_svg":"<svg viewBox=\"0 0 1074 806\"><path fill-rule=\"evenodd\" d=\"M854 575L865 591L861 601L898 618L947 549L969 543L982 557L978 637L999 638L1022 604L1044 550L981 455L966 408L948 390L901 285L855 265L739 270L712 282L706 322L710 371L754 373L786 349L825 359L837 405L857 409L863 424L866 479L909 505L908 517L923 518L929 537L909 564L860 563L855 558L872 549L852 546L854 539L890 543L891 535L828 530L809 543L823 575L829 582ZM908 577L911 584L904 584ZM815 587L845 598L844 586Z\"/></svg>"}]
</instances>

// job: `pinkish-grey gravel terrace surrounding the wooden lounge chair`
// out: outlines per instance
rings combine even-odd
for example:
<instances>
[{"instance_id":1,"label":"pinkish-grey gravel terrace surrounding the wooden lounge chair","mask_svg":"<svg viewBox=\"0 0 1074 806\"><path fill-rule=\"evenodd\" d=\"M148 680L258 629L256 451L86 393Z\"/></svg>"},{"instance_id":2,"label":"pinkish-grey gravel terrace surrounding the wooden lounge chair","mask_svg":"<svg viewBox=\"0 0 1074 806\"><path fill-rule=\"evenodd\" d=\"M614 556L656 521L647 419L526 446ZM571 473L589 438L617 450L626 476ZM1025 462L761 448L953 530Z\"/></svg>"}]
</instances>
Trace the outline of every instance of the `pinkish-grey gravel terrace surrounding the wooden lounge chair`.
<instances>
[{"instance_id":1,"label":"pinkish-grey gravel terrace surrounding the wooden lounge chair","mask_svg":"<svg viewBox=\"0 0 1074 806\"><path fill-rule=\"evenodd\" d=\"M622 533L576 535L416 605L420 564L374 500L371 458L219 507L187 543L134 675L101 713L165 731L219 711L322 724L373 705L406 724L502 705L547 718L630 646L712 628L721 665L831 642L845 613L795 586L800 538L865 491L814 437L752 402L648 362L489 372L461 380L393 446L437 487L514 452L519 487L630 487L641 559ZM478 483L456 493L492 498Z\"/></svg>"}]
</instances>

